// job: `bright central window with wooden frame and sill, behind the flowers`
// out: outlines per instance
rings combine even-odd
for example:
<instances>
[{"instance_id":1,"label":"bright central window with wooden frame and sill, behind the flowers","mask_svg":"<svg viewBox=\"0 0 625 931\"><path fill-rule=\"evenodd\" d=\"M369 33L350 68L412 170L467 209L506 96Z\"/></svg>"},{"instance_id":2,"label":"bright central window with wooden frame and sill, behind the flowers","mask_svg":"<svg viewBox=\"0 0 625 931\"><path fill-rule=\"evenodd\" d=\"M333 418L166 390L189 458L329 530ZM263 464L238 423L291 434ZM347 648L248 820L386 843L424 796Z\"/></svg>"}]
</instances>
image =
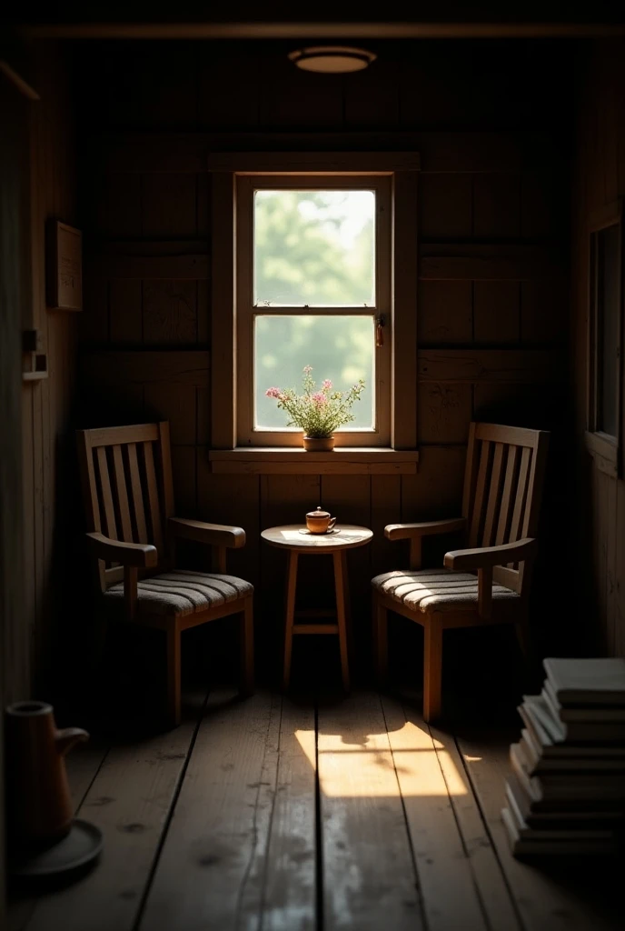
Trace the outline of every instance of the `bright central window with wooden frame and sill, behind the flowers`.
<instances>
[{"instance_id":1,"label":"bright central window with wooden frame and sill, behind the flowers","mask_svg":"<svg viewBox=\"0 0 625 931\"><path fill-rule=\"evenodd\" d=\"M216 152L208 168L212 471L414 474L419 155ZM335 453L304 455L265 397L306 365L317 384L366 381Z\"/></svg>"}]
</instances>

